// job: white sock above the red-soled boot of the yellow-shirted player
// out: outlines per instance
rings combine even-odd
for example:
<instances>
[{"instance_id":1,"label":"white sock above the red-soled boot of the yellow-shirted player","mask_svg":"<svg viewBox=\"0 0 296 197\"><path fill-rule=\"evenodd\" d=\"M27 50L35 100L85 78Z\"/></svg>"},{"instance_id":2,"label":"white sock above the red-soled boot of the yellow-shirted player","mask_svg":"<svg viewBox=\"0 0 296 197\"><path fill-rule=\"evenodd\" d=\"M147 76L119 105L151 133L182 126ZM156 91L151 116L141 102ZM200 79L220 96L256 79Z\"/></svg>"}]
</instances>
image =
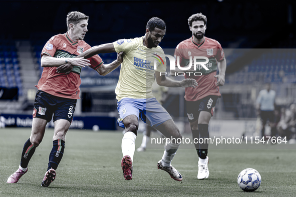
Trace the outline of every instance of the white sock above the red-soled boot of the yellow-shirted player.
<instances>
[{"instance_id":1,"label":"white sock above the red-soled boot of the yellow-shirted player","mask_svg":"<svg viewBox=\"0 0 296 197\"><path fill-rule=\"evenodd\" d=\"M123 156L129 155L133 161L135 153L135 140L137 135L131 131L124 133L121 141L121 151Z\"/></svg>"}]
</instances>

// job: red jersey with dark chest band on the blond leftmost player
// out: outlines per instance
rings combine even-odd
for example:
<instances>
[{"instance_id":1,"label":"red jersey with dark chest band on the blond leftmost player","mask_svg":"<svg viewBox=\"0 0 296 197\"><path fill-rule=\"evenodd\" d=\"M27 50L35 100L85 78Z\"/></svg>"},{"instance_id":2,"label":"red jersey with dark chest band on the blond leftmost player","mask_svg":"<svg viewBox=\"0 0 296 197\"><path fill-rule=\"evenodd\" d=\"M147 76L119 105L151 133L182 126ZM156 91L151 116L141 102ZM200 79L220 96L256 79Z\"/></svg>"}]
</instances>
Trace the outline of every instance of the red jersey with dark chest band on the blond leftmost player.
<instances>
[{"instance_id":1,"label":"red jersey with dark chest band on the blond leftmost player","mask_svg":"<svg viewBox=\"0 0 296 197\"><path fill-rule=\"evenodd\" d=\"M41 56L47 54L57 58L74 58L83 51L91 48L83 40L72 41L68 33L58 34L50 38L42 49ZM93 69L103 64L99 55L90 58ZM79 99L81 84L80 72L82 67L74 66L69 74L58 73L57 67L44 67L37 88L55 96Z\"/></svg>"}]
</instances>

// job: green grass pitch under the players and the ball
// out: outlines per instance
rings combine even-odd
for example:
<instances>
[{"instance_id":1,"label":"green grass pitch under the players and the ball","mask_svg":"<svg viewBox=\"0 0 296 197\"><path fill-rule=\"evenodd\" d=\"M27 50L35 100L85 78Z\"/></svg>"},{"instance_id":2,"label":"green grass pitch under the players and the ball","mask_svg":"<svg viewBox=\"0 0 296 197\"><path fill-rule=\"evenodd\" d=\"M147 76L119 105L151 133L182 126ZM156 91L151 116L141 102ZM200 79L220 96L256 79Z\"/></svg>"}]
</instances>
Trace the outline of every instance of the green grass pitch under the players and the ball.
<instances>
[{"instance_id":1,"label":"green grass pitch under the players and the ball","mask_svg":"<svg viewBox=\"0 0 296 197\"><path fill-rule=\"evenodd\" d=\"M7 183L18 169L30 133L30 128L0 128L0 196L296 196L293 144L210 145L210 176L205 180L196 177L198 159L193 145L182 148L181 144L172 165L183 175L183 181L157 169L163 154L161 145L135 152L133 179L125 180L120 166L122 132L76 129L67 133L64 157L49 187L42 187L41 182L52 148L53 129L47 129L28 172L18 183ZM136 148L141 140L139 133ZM236 183L238 173L247 167L255 168L262 177L254 192L244 192Z\"/></svg>"}]
</instances>

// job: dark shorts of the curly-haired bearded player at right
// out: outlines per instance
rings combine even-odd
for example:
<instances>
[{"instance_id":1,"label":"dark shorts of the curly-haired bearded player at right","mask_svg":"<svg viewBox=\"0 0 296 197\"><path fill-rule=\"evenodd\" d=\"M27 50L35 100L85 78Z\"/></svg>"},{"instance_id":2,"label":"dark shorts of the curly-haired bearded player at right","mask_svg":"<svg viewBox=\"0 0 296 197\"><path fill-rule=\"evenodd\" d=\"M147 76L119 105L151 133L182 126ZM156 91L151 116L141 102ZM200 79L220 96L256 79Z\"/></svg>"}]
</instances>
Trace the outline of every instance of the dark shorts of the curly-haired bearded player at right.
<instances>
[{"instance_id":1,"label":"dark shorts of the curly-haired bearded player at right","mask_svg":"<svg viewBox=\"0 0 296 197\"><path fill-rule=\"evenodd\" d=\"M200 111L208 111L213 116L217 99L218 99L218 96L209 95L196 101L185 100L188 121L194 122L198 120Z\"/></svg>"}]
</instances>

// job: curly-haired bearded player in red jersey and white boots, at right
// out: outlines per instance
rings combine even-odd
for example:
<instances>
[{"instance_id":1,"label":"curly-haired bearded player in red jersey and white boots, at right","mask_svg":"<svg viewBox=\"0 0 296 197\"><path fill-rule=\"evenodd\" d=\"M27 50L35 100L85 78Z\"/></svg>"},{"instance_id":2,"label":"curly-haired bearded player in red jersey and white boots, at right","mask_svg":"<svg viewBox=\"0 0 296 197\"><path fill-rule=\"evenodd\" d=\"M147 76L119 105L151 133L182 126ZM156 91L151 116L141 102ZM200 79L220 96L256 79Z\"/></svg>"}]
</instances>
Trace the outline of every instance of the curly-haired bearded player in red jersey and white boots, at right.
<instances>
[{"instance_id":1,"label":"curly-haired bearded player in red jersey and white boots, at right","mask_svg":"<svg viewBox=\"0 0 296 197\"><path fill-rule=\"evenodd\" d=\"M202 13L196 13L188 18L188 25L192 36L181 41L175 49L176 63L187 66L194 56L205 56L209 59L207 69L197 65L197 69L186 70L186 72L201 72L201 76L193 73L186 74L185 78L194 78L198 82L197 88L185 88L185 102L188 120L193 138L209 137L208 124L213 116L217 98L221 96L219 86L224 84L226 59L220 43L214 39L205 37L207 18ZM179 62L177 56L179 56ZM192 60L193 62L193 60ZM219 74L217 75L217 67ZM176 67L177 68L177 67ZM177 68L178 69L178 68ZM184 70L176 70L184 71ZM200 74L196 74L200 75ZM198 179L208 178L208 143L195 144L198 160Z\"/></svg>"}]
</instances>

